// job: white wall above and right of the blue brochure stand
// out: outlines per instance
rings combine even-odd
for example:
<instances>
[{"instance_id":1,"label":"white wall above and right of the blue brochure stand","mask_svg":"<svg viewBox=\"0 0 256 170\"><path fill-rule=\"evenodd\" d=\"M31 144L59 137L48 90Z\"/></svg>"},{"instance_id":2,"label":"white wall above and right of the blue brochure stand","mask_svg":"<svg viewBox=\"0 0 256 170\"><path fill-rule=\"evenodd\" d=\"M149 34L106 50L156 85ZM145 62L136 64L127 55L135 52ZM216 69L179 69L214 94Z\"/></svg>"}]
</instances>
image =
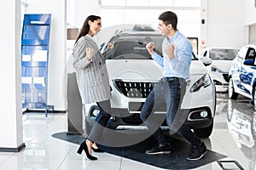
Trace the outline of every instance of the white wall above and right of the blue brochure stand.
<instances>
[{"instance_id":1,"label":"white wall above and right of the blue brochure stand","mask_svg":"<svg viewBox=\"0 0 256 170\"><path fill-rule=\"evenodd\" d=\"M48 104L66 111L63 85L66 65L66 0L27 0L27 14L51 14L48 70Z\"/></svg>"}]
</instances>

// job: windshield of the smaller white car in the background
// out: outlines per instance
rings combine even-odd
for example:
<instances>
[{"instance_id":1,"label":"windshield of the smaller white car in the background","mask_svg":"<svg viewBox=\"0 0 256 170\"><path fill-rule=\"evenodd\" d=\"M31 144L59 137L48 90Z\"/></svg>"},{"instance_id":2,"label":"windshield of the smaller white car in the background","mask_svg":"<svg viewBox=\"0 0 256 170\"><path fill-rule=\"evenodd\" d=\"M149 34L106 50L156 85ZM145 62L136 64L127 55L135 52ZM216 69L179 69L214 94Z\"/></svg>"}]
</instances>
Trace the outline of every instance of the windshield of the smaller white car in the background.
<instances>
[{"instance_id":1,"label":"windshield of the smaller white car in the background","mask_svg":"<svg viewBox=\"0 0 256 170\"><path fill-rule=\"evenodd\" d=\"M210 50L210 58L211 59L226 59L232 60L235 59L238 49L220 49L220 48L212 48Z\"/></svg>"}]
</instances>

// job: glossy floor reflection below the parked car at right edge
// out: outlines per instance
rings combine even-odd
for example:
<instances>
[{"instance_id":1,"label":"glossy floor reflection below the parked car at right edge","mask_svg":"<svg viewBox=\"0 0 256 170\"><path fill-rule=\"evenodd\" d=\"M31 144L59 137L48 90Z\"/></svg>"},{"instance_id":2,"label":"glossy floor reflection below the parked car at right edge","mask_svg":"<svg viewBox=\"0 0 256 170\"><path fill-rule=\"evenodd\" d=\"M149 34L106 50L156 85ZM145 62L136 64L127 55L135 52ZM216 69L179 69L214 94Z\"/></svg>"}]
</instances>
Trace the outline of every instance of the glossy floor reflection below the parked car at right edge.
<instances>
[{"instance_id":1,"label":"glossy floor reflection below the parked car at right edge","mask_svg":"<svg viewBox=\"0 0 256 170\"><path fill-rule=\"evenodd\" d=\"M251 99L228 99L227 123L237 147L248 160L246 169L256 169L256 111Z\"/></svg>"}]
</instances>

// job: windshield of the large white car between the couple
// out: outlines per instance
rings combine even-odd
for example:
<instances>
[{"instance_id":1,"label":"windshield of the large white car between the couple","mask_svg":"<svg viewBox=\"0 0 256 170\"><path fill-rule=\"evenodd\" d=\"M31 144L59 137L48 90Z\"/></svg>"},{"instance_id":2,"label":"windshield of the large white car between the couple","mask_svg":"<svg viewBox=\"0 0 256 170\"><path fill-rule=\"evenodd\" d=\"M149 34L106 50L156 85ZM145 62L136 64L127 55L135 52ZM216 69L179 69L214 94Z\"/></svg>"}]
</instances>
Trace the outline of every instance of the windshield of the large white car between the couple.
<instances>
[{"instance_id":1,"label":"windshield of the large white car between the couple","mask_svg":"<svg viewBox=\"0 0 256 170\"><path fill-rule=\"evenodd\" d=\"M114 48L112 53L106 53L106 49L103 55L106 59L152 59L151 55L148 54L146 44L148 42L154 42L154 51L157 54L161 53L162 42L164 37L161 35L122 35L113 37L110 42L114 43ZM195 54L191 56L192 59L195 58Z\"/></svg>"}]
</instances>

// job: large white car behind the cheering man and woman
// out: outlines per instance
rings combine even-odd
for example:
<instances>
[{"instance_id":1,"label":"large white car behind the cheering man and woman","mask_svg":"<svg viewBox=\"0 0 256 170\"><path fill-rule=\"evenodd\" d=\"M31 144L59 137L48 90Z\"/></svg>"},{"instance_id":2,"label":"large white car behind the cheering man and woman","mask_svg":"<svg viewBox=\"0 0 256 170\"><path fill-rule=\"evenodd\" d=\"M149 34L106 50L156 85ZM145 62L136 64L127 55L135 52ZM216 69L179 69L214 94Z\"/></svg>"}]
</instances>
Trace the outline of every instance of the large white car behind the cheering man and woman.
<instances>
[{"instance_id":1,"label":"large white car behind the cheering man and woman","mask_svg":"<svg viewBox=\"0 0 256 170\"><path fill-rule=\"evenodd\" d=\"M114 43L113 53L103 53L107 58L112 95L113 116L108 122L110 128L143 126L139 114L145 99L163 77L163 68L151 58L146 49L148 42L154 42L155 51L161 54L162 35L148 27L146 30L143 26L136 28L117 31L109 41ZM189 111L185 122L194 129L195 134L207 138L212 133L215 115L215 86L195 54L191 54L191 59L190 80L182 109ZM155 111L157 116L166 116L165 107ZM86 131L90 131L98 112L96 104L85 105ZM165 127L166 123L163 122L162 126Z\"/></svg>"}]
</instances>

